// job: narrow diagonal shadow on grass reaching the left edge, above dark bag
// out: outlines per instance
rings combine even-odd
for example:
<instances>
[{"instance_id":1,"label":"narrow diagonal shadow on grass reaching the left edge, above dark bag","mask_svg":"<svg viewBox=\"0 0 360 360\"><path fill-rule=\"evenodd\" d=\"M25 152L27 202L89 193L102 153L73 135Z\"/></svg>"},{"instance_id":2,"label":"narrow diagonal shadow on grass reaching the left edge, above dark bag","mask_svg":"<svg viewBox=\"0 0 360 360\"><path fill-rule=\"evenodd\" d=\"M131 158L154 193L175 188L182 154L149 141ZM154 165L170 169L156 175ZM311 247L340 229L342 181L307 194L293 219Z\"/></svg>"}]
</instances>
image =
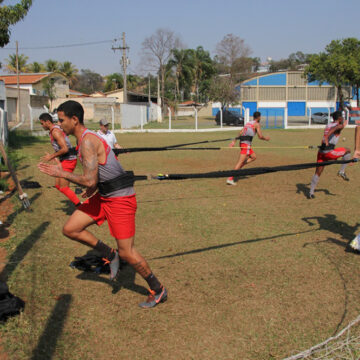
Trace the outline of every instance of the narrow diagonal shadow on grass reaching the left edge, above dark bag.
<instances>
[{"instance_id":1,"label":"narrow diagonal shadow on grass reaching the left edge, above dark bag","mask_svg":"<svg viewBox=\"0 0 360 360\"><path fill-rule=\"evenodd\" d=\"M0 279L2 281L7 281L7 279L11 276L13 271L18 266L18 264L21 263L21 261L25 258L27 253L31 250L33 245L36 243L36 241L44 233L44 231L49 225L50 222L43 222L16 247L15 251L9 257L8 263L6 264L4 270L0 274Z\"/></svg>"}]
</instances>

